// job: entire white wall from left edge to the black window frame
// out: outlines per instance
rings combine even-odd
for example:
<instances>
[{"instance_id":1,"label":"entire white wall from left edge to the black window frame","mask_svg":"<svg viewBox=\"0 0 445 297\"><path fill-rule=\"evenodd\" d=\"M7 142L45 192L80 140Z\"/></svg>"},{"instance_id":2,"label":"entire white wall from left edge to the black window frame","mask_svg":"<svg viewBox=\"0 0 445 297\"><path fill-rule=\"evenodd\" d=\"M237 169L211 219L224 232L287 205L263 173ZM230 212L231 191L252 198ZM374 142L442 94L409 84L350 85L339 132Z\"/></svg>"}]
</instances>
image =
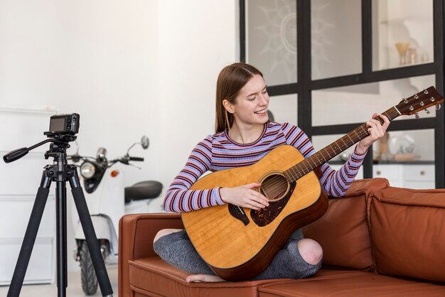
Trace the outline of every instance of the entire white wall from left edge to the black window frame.
<instances>
[{"instance_id":1,"label":"entire white wall from left edge to the black window frame","mask_svg":"<svg viewBox=\"0 0 445 297\"><path fill-rule=\"evenodd\" d=\"M104 146L120 156L146 134L149 150L133 151L145 162L141 171L125 168L126 184L154 179L167 188L213 133L218 72L239 57L237 3L0 1L0 108L79 113L81 154ZM31 146L26 136L1 141ZM68 256L73 247L70 240Z\"/></svg>"}]
</instances>

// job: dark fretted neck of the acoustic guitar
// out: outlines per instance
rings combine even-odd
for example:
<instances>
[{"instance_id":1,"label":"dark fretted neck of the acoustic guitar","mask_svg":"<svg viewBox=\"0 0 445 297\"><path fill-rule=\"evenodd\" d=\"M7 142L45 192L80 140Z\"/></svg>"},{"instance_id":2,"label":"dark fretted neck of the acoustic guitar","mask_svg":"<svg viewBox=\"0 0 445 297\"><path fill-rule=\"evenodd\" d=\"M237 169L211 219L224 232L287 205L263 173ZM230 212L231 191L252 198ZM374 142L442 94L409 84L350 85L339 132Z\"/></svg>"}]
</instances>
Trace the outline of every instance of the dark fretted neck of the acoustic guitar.
<instances>
[{"instance_id":1,"label":"dark fretted neck of the acoustic guitar","mask_svg":"<svg viewBox=\"0 0 445 297\"><path fill-rule=\"evenodd\" d=\"M384 114L388 119L390 119L390 121L400 116L400 112L397 109L397 107L391 107L382 114ZM380 116L376 117L375 119L380 121L380 124L383 124L384 122ZM334 141L332 144L329 144L325 148L314 153L309 158L306 158L304 161L301 161L295 166L284 171L284 175L289 181L294 182L295 180L298 180L299 178L306 175L307 173L313 171L318 166L321 166L323 163L326 163L327 161L331 160L331 158L337 156L342 151L345 151L346 148L349 148L350 146L353 146L353 144L358 143L358 141L364 139L368 135L369 135L368 127L366 126L366 124L362 124L357 128L353 129L353 131L350 131L341 139Z\"/></svg>"}]
</instances>

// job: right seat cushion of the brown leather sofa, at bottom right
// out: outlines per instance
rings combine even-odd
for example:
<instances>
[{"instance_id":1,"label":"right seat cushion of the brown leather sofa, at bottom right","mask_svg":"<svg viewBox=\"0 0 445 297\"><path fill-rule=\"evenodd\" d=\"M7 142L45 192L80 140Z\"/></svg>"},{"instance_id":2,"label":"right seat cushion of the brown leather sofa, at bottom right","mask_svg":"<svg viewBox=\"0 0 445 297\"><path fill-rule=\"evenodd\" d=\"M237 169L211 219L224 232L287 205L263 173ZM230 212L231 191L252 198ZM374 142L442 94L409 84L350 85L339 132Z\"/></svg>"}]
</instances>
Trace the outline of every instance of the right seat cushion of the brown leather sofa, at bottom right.
<instances>
[{"instance_id":1,"label":"right seat cushion of the brown leather sofa, at bottom right","mask_svg":"<svg viewBox=\"0 0 445 297\"><path fill-rule=\"evenodd\" d=\"M445 296L445 286L372 274L365 271L320 269L308 279L264 284L259 297L302 296Z\"/></svg>"}]
</instances>

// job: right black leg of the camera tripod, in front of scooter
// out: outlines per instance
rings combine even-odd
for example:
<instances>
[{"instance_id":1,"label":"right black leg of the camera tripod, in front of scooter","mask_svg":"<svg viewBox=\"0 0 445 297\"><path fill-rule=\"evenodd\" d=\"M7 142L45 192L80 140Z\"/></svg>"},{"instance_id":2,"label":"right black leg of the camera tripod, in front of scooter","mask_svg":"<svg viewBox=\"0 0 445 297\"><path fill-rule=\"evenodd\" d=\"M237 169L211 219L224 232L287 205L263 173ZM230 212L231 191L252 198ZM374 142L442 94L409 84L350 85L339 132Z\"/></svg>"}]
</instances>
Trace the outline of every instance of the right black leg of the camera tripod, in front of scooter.
<instances>
[{"instance_id":1,"label":"right black leg of the camera tripod, in front of scooter","mask_svg":"<svg viewBox=\"0 0 445 297\"><path fill-rule=\"evenodd\" d=\"M99 242L97 241L96 232L92 225L90 212L88 211L85 195L80 187L80 180L77 176L77 169L73 168L73 176L70 177L71 192L73 193L74 202L79 214L80 224L82 225L87 246L90 250L92 264L95 267L97 281L99 282L102 296L112 296L113 289L109 282L107 270L105 269L104 259L100 252Z\"/></svg>"}]
</instances>

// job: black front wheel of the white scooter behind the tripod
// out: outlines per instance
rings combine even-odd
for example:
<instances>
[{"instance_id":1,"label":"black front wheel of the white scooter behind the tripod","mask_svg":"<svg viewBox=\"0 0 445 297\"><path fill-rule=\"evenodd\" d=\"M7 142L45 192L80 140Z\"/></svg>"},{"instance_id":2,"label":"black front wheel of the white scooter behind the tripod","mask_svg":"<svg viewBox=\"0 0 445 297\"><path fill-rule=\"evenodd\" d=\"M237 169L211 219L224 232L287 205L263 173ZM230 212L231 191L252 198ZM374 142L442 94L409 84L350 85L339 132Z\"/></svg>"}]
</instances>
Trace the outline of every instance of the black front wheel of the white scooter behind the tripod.
<instances>
[{"instance_id":1,"label":"black front wheel of the white scooter behind the tripod","mask_svg":"<svg viewBox=\"0 0 445 297\"><path fill-rule=\"evenodd\" d=\"M85 295L94 295L97 291L97 277L95 267L92 265L91 254L86 240L82 240L80 243L79 252L82 291Z\"/></svg>"}]
</instances>

